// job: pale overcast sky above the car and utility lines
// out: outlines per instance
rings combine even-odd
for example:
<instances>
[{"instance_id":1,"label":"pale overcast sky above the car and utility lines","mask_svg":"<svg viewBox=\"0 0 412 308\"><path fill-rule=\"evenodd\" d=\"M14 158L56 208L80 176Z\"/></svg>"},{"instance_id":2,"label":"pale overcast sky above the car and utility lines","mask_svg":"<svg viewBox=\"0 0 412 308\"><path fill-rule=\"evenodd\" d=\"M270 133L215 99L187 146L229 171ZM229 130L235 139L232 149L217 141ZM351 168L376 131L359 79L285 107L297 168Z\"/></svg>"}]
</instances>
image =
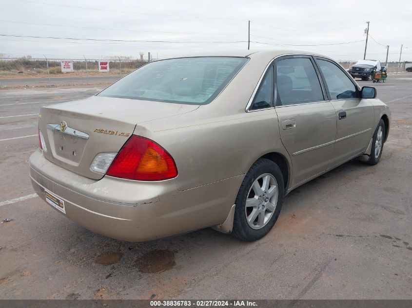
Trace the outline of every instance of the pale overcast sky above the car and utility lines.
<instances>
[{"instance_id":1,"label":"pale overcast sky above the car and utility lines","mask_svg":"<svg viewBox=\"0 0 412 308\"><path fill-rule=\"evenodd\" d=\"M251 50L302 49L357 60L363 58L370 21L367 58L384 61L390 45L389 61L398 61L403 44L402 61L412 61L412 0L0 0L0 7L1 35L99 39L0 36L0 54L14 56L104 58L151 52L164 58L247 49L250 19Z\"/></svg>"}]
</instances>

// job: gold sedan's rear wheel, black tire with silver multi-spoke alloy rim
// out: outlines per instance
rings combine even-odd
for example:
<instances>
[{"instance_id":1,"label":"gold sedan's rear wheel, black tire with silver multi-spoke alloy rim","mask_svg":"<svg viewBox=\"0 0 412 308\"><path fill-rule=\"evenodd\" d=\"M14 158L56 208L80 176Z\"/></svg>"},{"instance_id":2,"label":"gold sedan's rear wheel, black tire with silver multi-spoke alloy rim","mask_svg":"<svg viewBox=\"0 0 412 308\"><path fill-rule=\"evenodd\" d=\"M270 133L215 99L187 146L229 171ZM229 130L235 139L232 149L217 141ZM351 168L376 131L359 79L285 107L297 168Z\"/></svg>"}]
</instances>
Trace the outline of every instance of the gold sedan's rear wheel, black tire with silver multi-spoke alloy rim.
<instances>
[{"instance_id":1,"label":"gold sedan's rear wheel, black tire with silver multi-spoke alloy rim","mask_svg":"<svg viewBox=\"0 0 412 308\"><path fill-rule=\"evenodd\" d=\"M279 217L284 191L278 165L269 159L258 159L237 193L232 235L252 242L268 234Z\"/></svg>"}]
</instances>

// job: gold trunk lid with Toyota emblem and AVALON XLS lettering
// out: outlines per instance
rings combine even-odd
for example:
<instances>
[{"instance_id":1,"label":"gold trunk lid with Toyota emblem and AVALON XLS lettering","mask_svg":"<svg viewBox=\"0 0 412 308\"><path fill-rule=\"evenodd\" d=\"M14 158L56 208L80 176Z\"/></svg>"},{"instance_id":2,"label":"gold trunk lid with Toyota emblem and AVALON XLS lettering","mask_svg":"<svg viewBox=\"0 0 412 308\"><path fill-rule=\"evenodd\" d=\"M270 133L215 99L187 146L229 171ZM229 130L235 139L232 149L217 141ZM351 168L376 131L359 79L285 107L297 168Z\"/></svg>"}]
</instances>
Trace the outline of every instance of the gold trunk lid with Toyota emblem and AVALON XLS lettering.
<instances>
[{"instance_id":1,"label":"gold trunk lid with Toyota emblem and AVALON XLS lettering","mask_svg":"<svg viewBox=\"0 0 412 308\"><path fill-rule=\"evenodd\" d=\"M65 169L98 180L103 174L90 170L96 155L118 152L137 124L197 108L99 96L43 107L39 116L39 129L47 145L43 153Z\"/></svg>"}]
</instances>

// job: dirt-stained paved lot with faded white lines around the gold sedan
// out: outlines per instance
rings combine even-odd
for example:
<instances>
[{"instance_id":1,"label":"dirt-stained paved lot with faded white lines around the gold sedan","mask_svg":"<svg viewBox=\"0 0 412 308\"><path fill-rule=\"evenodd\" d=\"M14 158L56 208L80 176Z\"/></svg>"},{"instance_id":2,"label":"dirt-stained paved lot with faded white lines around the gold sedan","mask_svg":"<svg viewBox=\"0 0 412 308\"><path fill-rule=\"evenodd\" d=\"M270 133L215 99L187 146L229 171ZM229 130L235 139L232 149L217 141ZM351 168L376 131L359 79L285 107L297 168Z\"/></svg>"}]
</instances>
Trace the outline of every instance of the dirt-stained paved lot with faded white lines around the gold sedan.
<instances>
[{"instance_id":1,"label":"dirt-stained paved lot with faded white lines around the gold sedan","mask_svg":"<svg viewBox=\"0 0 412 308\"><path fill-rule=\"evenodd\" d=\"M33 195L37 114L99 88L1 90L0 299L412 299L412 78L393 77L359 81L392 109L381 162L295 189L254 243L211 229L129 243L70 221Z\"/></svg>"}]
</instances>

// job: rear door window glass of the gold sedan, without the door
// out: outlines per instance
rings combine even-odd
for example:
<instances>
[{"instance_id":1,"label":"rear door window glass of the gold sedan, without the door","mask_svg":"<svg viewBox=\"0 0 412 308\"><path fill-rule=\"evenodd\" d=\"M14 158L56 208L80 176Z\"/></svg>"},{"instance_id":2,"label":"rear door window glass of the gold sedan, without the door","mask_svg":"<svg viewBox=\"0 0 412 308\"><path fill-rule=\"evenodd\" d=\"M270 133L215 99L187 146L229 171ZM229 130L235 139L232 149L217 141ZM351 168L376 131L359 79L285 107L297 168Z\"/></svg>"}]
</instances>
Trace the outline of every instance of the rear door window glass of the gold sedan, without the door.
<instances>
[{"instance_id":1,"label":"rear door window glass of the gold sedan, without the door","mask_svg":"<svg viewBox=\"0 0 412 308\"><path fill-rule=\"evenodd\" d=\"M276 86L282 105L324 100L318 76L309 58L278 60Z\"/></svg>"}]
</instances>

